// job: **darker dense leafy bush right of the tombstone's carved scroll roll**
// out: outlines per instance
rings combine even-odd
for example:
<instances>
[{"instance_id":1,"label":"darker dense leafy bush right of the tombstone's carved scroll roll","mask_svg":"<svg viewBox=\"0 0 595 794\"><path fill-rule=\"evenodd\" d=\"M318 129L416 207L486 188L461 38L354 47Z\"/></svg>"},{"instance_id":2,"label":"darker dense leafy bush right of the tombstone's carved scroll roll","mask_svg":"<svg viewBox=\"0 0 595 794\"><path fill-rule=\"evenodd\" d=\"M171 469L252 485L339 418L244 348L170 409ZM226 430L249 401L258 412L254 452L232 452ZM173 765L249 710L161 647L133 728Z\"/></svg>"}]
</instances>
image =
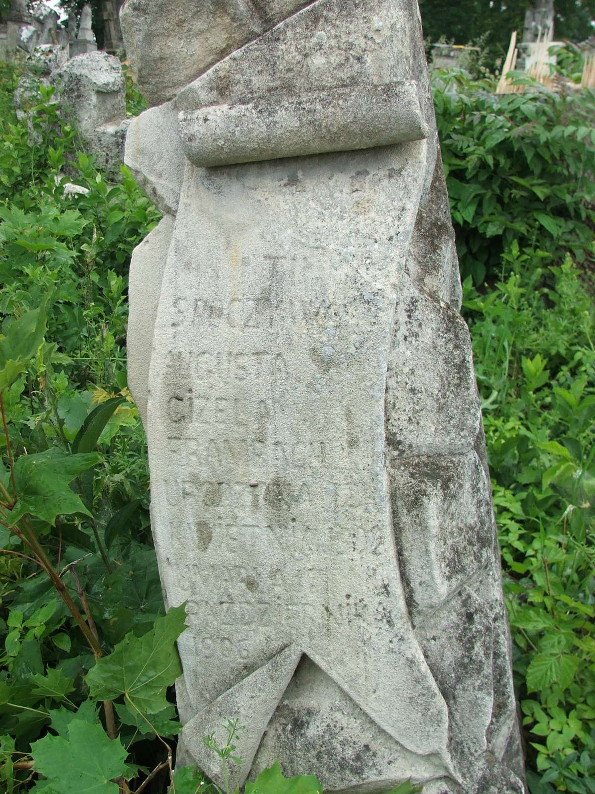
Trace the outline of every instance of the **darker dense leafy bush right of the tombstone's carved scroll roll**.
<instances>
[{"instance_id":1,"label":"darker dense leafy bush right of the tombstone's carved scroll roll","mask_svg":"<svg viewBox=\"0 0 595 794\"><path fill-rule=\"evenodd\" d=\"M463 278L493 279L513 241L593 264L595 91L498 95L440 71L434 101Z\"/></svg>"}]
</instances>

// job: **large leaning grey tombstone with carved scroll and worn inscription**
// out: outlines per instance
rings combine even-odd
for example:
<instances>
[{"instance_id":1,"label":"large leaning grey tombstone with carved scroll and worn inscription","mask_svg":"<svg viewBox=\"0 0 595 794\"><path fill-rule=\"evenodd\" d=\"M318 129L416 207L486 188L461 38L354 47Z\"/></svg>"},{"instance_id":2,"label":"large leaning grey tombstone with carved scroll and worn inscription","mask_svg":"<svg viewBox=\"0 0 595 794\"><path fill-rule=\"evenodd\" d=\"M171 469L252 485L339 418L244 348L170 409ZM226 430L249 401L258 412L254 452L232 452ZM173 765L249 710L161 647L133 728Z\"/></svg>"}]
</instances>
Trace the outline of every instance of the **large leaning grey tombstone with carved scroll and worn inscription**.
<instances>
[{"instance_id":1,"label":"large leaning grey tombstone with carved scroll and worn inscription","mask_svg":"<svg viewBox=\"0 0 595 794\"><path fill-rule=\"evenodd\" d=\"M520 794L509 630L415 0L128 0L163 210L129 383L178 641L178 764L239 719L328 792ZM209 33L210 32L210 33Z\"/></svg>"}]
</instances>

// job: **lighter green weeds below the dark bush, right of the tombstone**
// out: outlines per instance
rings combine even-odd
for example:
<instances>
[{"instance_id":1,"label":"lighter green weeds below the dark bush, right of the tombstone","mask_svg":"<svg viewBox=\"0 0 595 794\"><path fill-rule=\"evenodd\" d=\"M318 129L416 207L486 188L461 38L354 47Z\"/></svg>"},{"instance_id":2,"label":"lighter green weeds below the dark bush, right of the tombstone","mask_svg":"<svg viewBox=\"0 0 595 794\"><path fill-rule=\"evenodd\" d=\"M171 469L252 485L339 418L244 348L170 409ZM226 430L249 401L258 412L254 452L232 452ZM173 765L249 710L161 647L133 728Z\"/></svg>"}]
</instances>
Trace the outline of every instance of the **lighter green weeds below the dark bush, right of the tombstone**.
<instances>
[{"instance_id":1,"label":"lighter green weeds below the dark bush, right of the tombstone","mask_svg":"<svg viewBox=\"0 0 595 794\"><path fill-rule=\"evenodd\" d=\"M493 476L514 671L537 792L593 792L593 301L570 256L505 252L464 285ZM552 784L556 788L552 788Z\"/></svg>"}]
</instances>

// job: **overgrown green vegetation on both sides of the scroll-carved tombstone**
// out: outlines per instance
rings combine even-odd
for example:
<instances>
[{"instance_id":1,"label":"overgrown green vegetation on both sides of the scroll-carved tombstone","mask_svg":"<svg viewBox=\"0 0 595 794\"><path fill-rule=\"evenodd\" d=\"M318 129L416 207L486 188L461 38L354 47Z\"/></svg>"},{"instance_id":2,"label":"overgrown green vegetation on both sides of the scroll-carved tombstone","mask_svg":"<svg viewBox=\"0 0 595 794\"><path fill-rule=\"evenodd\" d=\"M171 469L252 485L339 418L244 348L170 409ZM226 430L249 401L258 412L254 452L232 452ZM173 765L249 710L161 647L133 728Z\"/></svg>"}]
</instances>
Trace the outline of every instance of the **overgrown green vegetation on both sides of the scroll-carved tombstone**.
<instances>
[{"instance_id":1,"label":"overgrown green vegetation on both sides of the scroll-carved tombstone","mask_svg":"<svg viewBox=\"0 0 595 794\"><path fill-rule=\"evenodd\" d=\"M183 608L164 615L125 385L129 257L159 215L125 168L106 182L51 91L28 124L0 79L0 786L208 792L197 769L171 777ZM593 94L496 97L442 73L435 97L529 783L593 792ZM205 738L224 765L237 730ZM248 794L317 788L277 766Z\"/></svg>"}]
</instances>

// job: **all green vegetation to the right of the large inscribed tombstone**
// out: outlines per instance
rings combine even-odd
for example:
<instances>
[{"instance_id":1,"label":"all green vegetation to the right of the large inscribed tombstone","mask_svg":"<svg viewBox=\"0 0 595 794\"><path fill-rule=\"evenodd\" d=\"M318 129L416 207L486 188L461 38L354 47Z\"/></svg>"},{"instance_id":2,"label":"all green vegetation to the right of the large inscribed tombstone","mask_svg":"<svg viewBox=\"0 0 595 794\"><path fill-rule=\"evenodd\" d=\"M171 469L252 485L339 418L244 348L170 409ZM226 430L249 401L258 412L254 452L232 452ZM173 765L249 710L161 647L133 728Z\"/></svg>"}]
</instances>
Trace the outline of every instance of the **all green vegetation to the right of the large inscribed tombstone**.
<instances>
[{"instance_id":1,"label":"all green vegetation to the right of the large inscribed tombstone","mask_svg":"<svg viewBox=\"0 0 595 794\"><path fill-rule=\"evenodd\" d=\"M435 79L532 794L595 791L595 93Z\"/></svg>"}]
</instances>

